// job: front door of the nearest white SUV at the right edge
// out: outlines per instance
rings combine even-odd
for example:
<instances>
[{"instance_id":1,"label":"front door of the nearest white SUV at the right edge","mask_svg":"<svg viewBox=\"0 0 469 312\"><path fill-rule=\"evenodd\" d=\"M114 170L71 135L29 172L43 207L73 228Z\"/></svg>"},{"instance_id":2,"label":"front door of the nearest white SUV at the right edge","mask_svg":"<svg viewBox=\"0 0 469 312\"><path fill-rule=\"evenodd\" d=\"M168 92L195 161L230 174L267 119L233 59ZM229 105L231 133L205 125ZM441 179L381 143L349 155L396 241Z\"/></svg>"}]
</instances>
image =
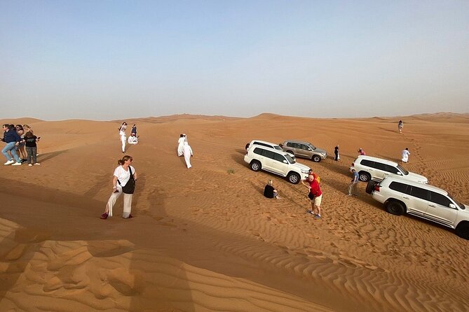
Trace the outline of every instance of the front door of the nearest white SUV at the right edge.
<instances>
[{"instance_id":1,"label":"front door of the nearest white SUV at the right edge","mask_svg":"<svg viewBox=\"0 0 469 312\"><path fill-rule=\"evenodd\" d=\"M458 208L451 208L449 204L454 204L451 199L443 194L430 191L428 199L428 209L425 218L452 227L458 217Z\"/></svg>"}]
</instances>

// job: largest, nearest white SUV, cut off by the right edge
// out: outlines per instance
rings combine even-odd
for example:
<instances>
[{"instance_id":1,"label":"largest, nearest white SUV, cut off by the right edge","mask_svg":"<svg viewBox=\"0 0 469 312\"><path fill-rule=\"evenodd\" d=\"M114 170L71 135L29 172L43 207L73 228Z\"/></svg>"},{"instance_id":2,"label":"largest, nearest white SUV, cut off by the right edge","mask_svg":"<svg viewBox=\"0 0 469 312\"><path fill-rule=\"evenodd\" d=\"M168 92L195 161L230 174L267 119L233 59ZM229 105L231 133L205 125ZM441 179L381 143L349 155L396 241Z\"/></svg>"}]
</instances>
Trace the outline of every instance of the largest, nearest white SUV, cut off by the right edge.
<instances>
[{"instance_id":1,"label":"largest, nearest white SUV, cut off by the right edge","mask_svg":"<svg viewBox=\"0 0 469 312\"><path fill-rule=\"evenodd\" d=\"M469 209L438 187L387 176L381 182L370 180L367 193L384 204L393 215L409 213L456 229L456 234L469 239Z\"/></svg>"}]
</instances>

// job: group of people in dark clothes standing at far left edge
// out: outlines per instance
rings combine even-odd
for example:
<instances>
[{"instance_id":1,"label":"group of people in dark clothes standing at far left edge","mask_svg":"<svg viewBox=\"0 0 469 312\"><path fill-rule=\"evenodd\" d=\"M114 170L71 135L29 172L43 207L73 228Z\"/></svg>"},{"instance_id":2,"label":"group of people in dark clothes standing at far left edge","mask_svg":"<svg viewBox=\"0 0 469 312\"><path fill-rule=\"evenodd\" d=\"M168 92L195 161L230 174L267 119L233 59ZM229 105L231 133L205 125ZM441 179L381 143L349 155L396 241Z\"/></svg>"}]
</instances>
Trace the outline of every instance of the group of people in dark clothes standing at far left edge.
<instances>
[{"instance_id":1,"label":"group of people in dark clothes standing at far left edge","mask_svg":"<svg viewBox=\"0 0 469 312\"><path fill-rule=\"evenodd\" d=\"M4 124L3 129L4 137L1 141L4 141L6 145L1 153L6 158L4 165L21 166L22 162L27 162L29 166L39 165L37 162L37 142L41 137L34 135L32 127Z\"/></svg>"}]
</instances>

